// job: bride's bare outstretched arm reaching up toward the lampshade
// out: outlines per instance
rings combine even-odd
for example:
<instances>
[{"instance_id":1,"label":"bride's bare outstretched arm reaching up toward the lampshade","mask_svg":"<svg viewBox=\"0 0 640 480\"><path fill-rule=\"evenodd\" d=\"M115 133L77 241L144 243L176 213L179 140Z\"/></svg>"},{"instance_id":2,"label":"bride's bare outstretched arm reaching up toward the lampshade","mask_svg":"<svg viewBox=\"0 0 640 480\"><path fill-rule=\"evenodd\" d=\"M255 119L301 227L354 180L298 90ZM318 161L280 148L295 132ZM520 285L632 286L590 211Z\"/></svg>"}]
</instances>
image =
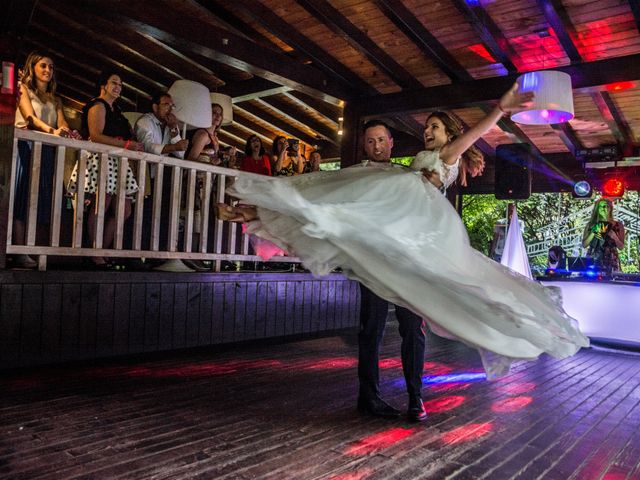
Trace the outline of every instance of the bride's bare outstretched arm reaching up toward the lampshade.
<instances>
[{"instance_id":1,"label":"bride's bare outstretched arm reaching up toward the lampshade","mask_svg":"<svg viewBox=\"0 0 640 480\"><path fill-rule=\"evenodd\" d=\"M440 158L448 165L455 163L458 157L498 123L503 114L526 108L532 100L533 92L518 92L518 84L514 83L491 112L458 138L442 147Z\"/></svg>"}]
</instances>

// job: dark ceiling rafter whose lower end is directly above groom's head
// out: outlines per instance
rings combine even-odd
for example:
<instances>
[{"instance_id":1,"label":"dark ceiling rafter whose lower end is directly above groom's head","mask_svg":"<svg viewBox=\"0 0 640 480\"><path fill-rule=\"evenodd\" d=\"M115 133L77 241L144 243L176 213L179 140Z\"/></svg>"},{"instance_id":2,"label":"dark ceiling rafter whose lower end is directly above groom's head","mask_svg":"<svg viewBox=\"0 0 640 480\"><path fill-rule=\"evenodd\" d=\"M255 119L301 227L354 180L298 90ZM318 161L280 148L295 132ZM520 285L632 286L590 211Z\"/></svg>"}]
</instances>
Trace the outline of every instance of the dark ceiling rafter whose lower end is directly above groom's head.
<instances>
[{"instance_id":1,"label":"dark ceiling rafter whose lower end is directly above groom's head","mask_svg":"<svg viewBox=\"0 0 640 480\"><path fill-rule=\"evenodd\" d=\"M290 47L300 51L325 73L339 78L345 85L359 90L364 89L368 93L375 93L368 83L351 70L338 62L335 58L322 50L311 39L304 36L294 26L288 24L284 19L273 13L273 10L265 7L255 0L239 0L239 4L244 11L254 20L276 35Z\"/></svg>"}]
</instances>

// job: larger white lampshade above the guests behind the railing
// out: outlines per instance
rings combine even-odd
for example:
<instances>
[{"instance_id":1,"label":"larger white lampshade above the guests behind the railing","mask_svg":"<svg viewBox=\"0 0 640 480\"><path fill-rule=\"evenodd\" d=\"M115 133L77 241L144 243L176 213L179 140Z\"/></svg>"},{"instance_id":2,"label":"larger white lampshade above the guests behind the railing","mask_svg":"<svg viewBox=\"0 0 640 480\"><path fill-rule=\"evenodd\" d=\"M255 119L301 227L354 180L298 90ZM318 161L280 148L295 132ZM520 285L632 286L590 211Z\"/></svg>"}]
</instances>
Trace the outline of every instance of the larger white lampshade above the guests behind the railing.
<instances>
[{"instance_id":1,"label":"larger white lampshade above the guests behind the railing","mask_svg":"<svg viewBox=\"0 0 640 480\"><path fill-rule=\"evenodd\" d=\"M175 116L187 126L207 128L211 126L209 89L191 80L176 80L169 89L176 105Z\"/></svg>"}]
</instances>

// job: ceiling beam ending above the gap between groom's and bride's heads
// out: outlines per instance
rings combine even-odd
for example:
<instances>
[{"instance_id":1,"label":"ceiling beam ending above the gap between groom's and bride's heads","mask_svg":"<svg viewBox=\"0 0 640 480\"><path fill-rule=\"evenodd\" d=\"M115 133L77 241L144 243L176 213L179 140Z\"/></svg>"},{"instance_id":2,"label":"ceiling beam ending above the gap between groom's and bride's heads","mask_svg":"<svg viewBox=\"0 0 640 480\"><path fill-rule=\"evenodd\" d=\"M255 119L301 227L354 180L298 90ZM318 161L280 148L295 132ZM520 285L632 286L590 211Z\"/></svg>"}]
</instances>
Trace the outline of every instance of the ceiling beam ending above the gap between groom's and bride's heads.
<instances>
[{"instance_id":1,"label":"ceiling beam ending above the gap between groom's and bride's heads","mask_svg":"<svg viewBox=\"0 0 640 480\"><path fill-rule=\"evenodd\" d=\"M296 0L316 19L340 35L403 89L422 88L411 73L326 0Z\"/></svg>"}]
</instances>

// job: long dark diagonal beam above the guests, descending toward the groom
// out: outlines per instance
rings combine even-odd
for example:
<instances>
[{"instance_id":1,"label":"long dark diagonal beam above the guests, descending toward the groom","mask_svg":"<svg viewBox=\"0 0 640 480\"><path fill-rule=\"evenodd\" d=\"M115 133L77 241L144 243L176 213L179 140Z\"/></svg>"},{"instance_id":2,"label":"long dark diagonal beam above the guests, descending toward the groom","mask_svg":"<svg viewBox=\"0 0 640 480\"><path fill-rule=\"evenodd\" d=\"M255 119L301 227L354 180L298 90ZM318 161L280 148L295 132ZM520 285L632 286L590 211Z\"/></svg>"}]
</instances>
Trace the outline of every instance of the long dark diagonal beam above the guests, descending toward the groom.
<instances>
[{"instance_id":1,"label":"long dark diagonal beam above the guests, descending toward the groom","mask_svg":"<svg viewBox=\"0 0 640 480\"><path fill-rule=\"evenodd\" d=\"M275 51L265 55L258 44L231 32L214 30L198 19L176 22L167 15L147 14L147 5L142 8L133 2L126 7L121 9L122 13L109 11L103 14L114 23L151 35L178 50L192 52L321 98L346 99L354 93L317 68L300 65Z\"/></svg>"}]
</instances>

